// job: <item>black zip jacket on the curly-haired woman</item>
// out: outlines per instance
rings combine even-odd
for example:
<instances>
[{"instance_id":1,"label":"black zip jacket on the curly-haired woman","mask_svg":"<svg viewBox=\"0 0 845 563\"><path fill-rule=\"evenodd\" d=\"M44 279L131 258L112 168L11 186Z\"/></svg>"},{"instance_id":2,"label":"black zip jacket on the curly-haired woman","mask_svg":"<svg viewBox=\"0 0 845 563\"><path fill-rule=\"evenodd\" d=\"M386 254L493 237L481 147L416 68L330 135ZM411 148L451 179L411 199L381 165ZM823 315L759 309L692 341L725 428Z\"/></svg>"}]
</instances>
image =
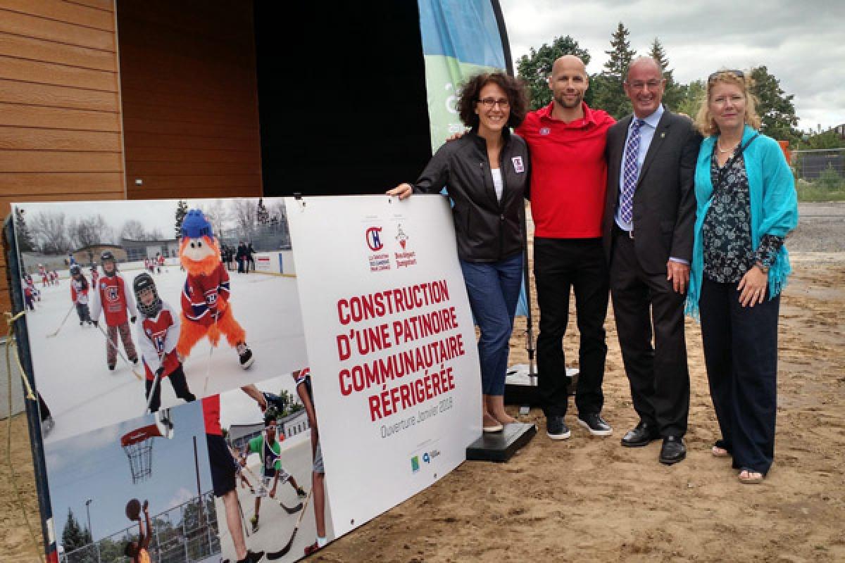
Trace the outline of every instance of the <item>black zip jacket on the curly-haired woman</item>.
<instances>
[{"instance_id":1,"label":"black zip jacket on the curly-haired woman","mask_svg":"<svg viewBox=\"0 0 845 563\"><path fill-rule=\"evenodd\" d=\"M531 159L521 137L507 128L502 133L501 202L493 188L487 143L476 129L440 147L412 184L417 193L438 193L444 187L449 192L458 256L467 262L498 262L522 252L521 216Z\"/></svg>"}]
</instances>

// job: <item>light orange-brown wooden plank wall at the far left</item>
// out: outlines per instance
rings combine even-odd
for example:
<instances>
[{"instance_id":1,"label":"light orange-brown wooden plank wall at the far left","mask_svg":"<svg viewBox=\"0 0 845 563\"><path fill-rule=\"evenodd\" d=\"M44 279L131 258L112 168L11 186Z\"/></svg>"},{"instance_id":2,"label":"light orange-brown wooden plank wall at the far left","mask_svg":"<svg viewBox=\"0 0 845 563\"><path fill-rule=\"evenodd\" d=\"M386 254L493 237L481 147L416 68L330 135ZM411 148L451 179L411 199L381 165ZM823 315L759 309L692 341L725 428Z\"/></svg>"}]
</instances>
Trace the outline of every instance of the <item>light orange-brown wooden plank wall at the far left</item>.
<instances>
[{"instance_id":1,"label":"light orange-brown wooden plank wall at the far left","mask_svg":"<svg viewBox=\"0 0 845 563\"><path fill-rule=\"evenodd\" d=\"M118 90L112 0L0 0L0 216L125 198ZM5 270L0 257L0 311Z\"/></svg>"}]
</instances>

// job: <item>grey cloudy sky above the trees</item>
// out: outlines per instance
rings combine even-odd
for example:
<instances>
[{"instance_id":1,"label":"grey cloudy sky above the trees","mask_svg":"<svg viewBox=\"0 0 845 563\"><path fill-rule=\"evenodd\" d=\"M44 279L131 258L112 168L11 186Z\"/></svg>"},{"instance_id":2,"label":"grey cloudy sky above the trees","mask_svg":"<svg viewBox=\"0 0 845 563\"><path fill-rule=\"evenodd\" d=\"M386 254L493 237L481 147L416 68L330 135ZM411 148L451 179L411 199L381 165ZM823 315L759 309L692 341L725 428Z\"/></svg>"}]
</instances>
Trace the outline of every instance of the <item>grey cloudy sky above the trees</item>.
<instances>
[{"instance_id":1,"label":"grey cloudy sky above the trees","mask_svg":"<svg viewBox=\"0 0 845 563\"><path fill-rule=\"evenodd\" d=\"M571 35L590 51L587 72L608 60L621 21L630 45L646 54L662 42L678 82L717 68L766 65L781 81L799 127L845 123L845 2L842 0L500 0L514 64L531 47Z\"/></svg>"}]
</instances>

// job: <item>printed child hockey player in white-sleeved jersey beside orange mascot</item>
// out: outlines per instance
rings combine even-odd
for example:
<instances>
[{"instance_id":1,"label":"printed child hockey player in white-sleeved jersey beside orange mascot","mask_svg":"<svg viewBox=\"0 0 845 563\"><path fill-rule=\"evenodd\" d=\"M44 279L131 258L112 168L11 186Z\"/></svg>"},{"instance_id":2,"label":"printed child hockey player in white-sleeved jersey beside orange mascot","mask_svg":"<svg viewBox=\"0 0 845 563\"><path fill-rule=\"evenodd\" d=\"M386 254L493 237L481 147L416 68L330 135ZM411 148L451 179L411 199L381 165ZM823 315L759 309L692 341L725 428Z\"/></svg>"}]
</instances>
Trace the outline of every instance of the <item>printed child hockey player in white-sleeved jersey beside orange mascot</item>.
<instances>
[{"instance_id":1,"label":"printed child hockey player in white-sleeved jersey beside orange mascot","mask_svg":"<svg viewBox=\"0 0 845 563\"><path fill-rule=\"evenodd\" d=\"M179 315L161 300L158 290L155 289L155 281L149 273L139 273L132 289L141 314L141 322L135 328L135 336L138 338L141 360L144 361L146 371L146 397L150 402L150 412L155 413L161 406L161 380L165 377L170 378L173 392L178 398L186 403L194 401L196 397L188 389L182 361L176 352Z\"/></svg>"}]
</instances>

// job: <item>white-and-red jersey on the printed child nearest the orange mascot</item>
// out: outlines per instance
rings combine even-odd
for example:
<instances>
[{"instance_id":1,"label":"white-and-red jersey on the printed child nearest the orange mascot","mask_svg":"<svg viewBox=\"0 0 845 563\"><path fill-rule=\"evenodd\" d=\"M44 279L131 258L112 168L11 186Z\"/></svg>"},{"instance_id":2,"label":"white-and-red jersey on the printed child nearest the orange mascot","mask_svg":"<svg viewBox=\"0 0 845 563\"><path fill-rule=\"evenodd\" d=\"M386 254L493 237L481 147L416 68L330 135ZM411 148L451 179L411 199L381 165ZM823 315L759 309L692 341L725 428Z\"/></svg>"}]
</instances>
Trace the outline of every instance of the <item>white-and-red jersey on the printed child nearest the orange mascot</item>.
<instances>
[{"instance_id":1,"label":"white-and-red jersey on the printed child nearest the orange mascot","mask_svg":"<svg viewBox=\"0 0 845 563\"><path fill-rule=\"evenodd\" d=\"M179 341L181 321L176 311L161 301L161 311L155 317L143 317L135 328L137 342L144 360L147 379L155 380L155 371L162 365L164 378L179 367L176 344Z\"/></svg>"}]
</instances>

